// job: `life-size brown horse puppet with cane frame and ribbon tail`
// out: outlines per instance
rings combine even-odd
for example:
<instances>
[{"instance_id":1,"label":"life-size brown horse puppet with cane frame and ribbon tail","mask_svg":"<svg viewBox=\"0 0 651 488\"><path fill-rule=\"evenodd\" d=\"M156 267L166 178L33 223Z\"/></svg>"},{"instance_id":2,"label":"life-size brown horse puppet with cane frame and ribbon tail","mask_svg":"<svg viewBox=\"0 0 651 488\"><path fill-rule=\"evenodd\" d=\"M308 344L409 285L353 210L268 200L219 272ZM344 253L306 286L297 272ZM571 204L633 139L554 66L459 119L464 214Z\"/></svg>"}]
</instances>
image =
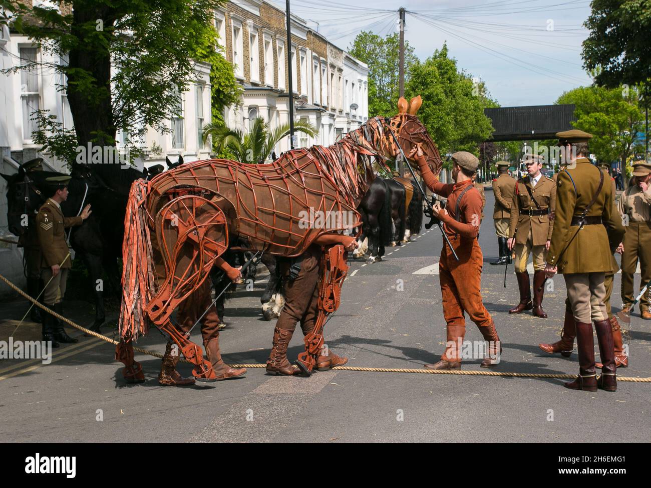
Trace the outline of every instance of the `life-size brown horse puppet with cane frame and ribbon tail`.
<instances>
[{"instance_id":1,"label":"life-size brown horse puppet with cane frame and ribbon tail","mask_svg":"<svg viewBox=\"0 0 651 488\"><path fill-rule=\"evenodd\" d=\"M270 164L242 164L224 159L198 161L161 173L132 186L125 220L121 341L116 357L126 366L124 377L142 381L133 359L132 342L153 322L194 365L199 381L215 381L212 364L171 319L174 309L201 287L210 268L229 245L229 238L247 239L251 248L281 257L301 255L321 235L358 227L357 205L375 175L373 162L383 164L399 149L421 144L434 173L441 168L436 144L418 120L416 97L398 101L398 115L372 118L329 147L287 151ZM305 215L336 212L323 228L305 225ZM342 222L350 216L353 222ZM341 220L340 220L341 219ZM156 267L164 268L156 283ZM320 353L326 317L339 306L346 277L346 253L335 244L322 257L318 316L305 337L299 363L311 372Z\"/></svg>"}]
</instances>

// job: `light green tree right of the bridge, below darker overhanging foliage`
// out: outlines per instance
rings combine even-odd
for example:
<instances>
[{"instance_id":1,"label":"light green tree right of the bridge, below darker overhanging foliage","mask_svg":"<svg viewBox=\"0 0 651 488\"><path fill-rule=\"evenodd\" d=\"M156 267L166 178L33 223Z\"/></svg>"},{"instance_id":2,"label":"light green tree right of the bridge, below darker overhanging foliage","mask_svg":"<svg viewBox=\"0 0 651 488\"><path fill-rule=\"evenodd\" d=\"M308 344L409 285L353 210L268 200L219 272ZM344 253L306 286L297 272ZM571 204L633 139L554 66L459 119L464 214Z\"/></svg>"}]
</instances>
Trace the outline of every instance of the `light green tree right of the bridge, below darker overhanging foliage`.
<instances>
[{"instance_id":1,"label":"light green tree right of the bridge, below darker overhanging foliage","mask_svg":"<svg viewBox=\"0 0 651 488\"><path fill-rule=\"evenodd\" d=\"M572 125L592 134L590 153L599 161L625 163L633 153L644 152L644 114L637 87L581 86L562 94L556 103L574 103Z\"/></svg>"}]
</instances>

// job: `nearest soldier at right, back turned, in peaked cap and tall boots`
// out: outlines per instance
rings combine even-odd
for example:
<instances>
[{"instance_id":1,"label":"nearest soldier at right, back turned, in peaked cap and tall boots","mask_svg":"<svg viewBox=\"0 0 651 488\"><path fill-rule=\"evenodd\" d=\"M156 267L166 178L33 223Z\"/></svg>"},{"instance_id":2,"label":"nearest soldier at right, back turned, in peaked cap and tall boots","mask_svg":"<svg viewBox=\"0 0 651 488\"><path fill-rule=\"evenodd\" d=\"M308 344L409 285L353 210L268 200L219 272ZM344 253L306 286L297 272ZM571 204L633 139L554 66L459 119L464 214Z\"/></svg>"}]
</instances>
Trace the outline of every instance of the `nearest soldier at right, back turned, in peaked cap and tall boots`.
<instances>
[{"instance_id":1,"label":"nearest soldier at right, back turned, in peaked cap and tall boots","mask_svg":"<svg viewBox=\"0 0 651 488\"><path fill-rule=\"evenodd\" d=\"M574 390L616 391L613 332L604 303L605 273L612 272L615 244L624 235L615 213L613 189L607 175L586 155L592 136L573 129L558 133L564 157L570 160L557 178L557 207L545 272L564 275L576 326L579 376L565 386ZM596 329L603 367L596 379L592 324Z\"/></svg>"}]
</instances>

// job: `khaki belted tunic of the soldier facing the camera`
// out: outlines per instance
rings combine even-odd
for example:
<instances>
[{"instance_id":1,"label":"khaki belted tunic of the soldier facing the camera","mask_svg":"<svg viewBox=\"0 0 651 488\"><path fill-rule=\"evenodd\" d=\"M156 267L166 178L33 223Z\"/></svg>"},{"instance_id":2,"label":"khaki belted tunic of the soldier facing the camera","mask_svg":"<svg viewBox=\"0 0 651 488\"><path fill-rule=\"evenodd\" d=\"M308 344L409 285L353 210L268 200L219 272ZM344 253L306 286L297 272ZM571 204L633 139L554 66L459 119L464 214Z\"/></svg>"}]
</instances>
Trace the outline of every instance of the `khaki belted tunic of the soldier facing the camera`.
<instances>
[{"instance_id":1,"label":"khaki belted tunic of the soldier facing the camera","mask_svg":"<svg viewBox=\"0 0 651 488\"><path fill-rule=\"evenodd\" d=\"M527 187L531 188L531 194L540 205L540 209L549 209L551 213L556 211L556 186L552 179L540 175L538 183L532 187L528 176L521 178L516 183L516 191L511 200L508 235L516 238L516 244L526 244L531 233L533 240L531 245L544 246L547 240L551 239L554 223L549 220L547 214L533 216L520 214L520 211L538 210L536 204L529 197Z\"/></svg>"}]
</instances>

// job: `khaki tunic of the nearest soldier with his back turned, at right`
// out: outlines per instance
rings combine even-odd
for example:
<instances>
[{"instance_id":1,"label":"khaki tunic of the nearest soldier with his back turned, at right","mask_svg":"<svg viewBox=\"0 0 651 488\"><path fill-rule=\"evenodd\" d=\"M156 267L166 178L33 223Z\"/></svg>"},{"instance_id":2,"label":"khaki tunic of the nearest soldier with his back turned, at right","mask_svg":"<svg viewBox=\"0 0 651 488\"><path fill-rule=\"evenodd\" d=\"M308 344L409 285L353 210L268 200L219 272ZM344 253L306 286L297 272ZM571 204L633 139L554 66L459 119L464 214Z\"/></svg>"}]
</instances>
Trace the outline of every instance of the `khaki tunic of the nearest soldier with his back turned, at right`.
<instances>
[{"instance_id":1,"label":"khaki tunic of the nearest soldier with his back turned, at right","mask_svg":"<svg viewBox=\"0 0 651 488\"><path fill-rule=\"evenodd\" d=\"M613 269L613 246L624 237L624 226L615 212L613 188L607 175L587 213L588 216L601 216L603 225L585 225L581 231L578 225L570 225L572 216L580 216L596 193L598 171L601 170L587 158L579 158L574 168L560 173L557 178L556 216L547 263L558 266L559 273L596 273Z\"/></svg>"}]
</instances>

